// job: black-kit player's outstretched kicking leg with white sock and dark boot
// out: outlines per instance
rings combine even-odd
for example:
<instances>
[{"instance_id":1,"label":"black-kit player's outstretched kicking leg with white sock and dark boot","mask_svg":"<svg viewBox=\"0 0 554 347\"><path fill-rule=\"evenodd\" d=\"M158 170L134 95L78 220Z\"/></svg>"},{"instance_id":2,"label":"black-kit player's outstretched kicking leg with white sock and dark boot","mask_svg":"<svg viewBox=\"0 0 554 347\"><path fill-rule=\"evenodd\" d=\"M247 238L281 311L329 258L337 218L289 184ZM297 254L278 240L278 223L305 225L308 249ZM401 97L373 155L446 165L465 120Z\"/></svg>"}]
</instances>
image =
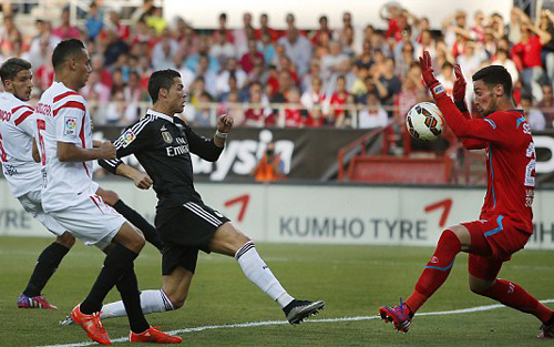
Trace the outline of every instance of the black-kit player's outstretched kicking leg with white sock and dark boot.
<instances>
[{"instance_id":1,"label":"black-kit player's outstretched kicking leg with white sock and dark boot","mask_svg":"<svg viewBox=\"0 0 554 347\"><path fill-rule=\"evenodd\" d=\"M230 222L217 228L209 251L235 257L246 277L280 305L290 324L298 324L325 307L324 302L298 300L290 296L261 259L254 242Z\"/></svg>"}]
</instances>

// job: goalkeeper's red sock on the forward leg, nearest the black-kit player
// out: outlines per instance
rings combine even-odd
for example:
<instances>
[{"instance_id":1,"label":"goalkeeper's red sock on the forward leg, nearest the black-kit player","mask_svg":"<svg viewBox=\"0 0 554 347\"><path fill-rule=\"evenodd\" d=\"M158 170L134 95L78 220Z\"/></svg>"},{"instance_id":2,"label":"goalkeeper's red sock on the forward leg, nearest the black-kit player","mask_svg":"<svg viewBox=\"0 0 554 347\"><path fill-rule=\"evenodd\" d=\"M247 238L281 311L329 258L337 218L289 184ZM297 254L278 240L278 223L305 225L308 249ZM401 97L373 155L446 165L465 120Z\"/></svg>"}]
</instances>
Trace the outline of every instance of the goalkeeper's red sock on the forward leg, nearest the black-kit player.
<instances>
[{"instance_id":1,"label":"goalkeeper's red sock on the forward leg, nearest the black-kit player","mask_svg":"<svg viewBox=\"0 0 554 347\"><path fill-rule=\"evenodd\" d=\"M425 269L416 284L416 289L406 300L406 305L408 305L412 314L447 280L450 269L454 265L455 255L461 249L460 239L451 229L442 232L431 261L427 263Z\"/></svg>"}]
</instances>

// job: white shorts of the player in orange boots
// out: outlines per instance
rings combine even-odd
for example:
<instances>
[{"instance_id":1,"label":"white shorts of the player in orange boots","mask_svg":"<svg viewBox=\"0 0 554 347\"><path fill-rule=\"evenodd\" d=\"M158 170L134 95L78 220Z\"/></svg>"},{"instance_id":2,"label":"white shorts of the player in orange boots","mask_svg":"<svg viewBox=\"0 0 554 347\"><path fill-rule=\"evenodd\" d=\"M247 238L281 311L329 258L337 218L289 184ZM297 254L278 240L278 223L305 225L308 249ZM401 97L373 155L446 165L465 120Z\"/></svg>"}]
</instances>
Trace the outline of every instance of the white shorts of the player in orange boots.
<instances>
[{"instance_id":1,"label":"white shorts of the player in orange boots","mask_svg":"<svg viewBox=\"0 0 554 347\"><path fill-rule=\"evenodd\" d=\"M106 205L102 197L92 192L83 192L72 206L52 211L50 215L86 246L96 246L100 249L110 245L126 222L121 214Z\"/></svg>"}]
</instances>

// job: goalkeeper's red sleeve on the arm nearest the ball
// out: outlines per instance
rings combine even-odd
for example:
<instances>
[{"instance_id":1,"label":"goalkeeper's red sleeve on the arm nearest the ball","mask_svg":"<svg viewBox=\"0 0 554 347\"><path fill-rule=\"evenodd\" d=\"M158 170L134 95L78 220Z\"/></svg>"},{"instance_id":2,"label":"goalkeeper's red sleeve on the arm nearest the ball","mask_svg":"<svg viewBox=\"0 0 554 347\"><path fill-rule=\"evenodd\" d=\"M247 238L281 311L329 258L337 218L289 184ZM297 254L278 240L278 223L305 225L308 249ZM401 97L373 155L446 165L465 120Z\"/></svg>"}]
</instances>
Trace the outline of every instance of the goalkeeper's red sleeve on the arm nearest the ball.
<instances>
[{"instance_id":1,"label":"goalkeeper's red sleeve on the arm nearest the ball","mask_svg":"<svg viewBox=\"0 0 554 347\"><path fill-rule=\"evenodd\" d=\"M493 113L485 119L466 119L445 93L437 98L437 106L458 137L493 142L499 145L510 144L510 132L506 131L501 115Z\"/></svg>"}]
</instances>

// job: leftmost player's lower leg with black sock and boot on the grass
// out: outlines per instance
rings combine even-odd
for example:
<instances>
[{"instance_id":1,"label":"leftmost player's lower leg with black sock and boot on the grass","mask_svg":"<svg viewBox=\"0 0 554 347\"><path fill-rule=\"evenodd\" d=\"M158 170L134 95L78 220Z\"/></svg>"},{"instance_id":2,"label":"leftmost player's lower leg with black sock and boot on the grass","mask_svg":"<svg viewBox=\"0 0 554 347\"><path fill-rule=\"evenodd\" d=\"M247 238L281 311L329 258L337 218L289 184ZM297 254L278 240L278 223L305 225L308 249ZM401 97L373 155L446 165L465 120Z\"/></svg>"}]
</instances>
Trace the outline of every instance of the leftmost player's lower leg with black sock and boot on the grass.
<instances>
[{"instance_id":1,"label":"leftmost player's lower leg with black sock and boot on the grass","mask_svg":"<svg viewBox=\"0 0 554 347\"><path fill-rule=\"evenodd\" d=\"M75 237L70 233L64 233L42 251L27 288L18 298L19 308L58 309L58 307L50 304L42 295L42 289L74 243Z\"/></svg>"}]
</instances>

